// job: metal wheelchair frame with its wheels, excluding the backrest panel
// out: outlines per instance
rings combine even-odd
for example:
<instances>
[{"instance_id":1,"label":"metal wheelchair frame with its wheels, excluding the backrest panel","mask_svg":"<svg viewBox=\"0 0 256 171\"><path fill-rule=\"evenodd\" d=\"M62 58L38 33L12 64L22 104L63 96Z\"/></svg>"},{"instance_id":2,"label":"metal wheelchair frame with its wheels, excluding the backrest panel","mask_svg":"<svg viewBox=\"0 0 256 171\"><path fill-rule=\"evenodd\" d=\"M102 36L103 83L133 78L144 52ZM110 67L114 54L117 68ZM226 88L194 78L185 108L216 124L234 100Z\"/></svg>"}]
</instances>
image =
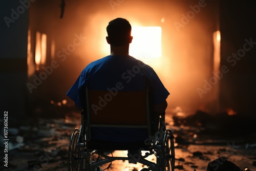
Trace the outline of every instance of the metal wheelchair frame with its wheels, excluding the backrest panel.
<instances>
[{"instance_id":1,"label":"metal wheelchair frame with its wheels, excluding the backrest panel","mask_svg":"<svg viewBox=\"0 0 256 171\"><path fill-rule=\"evenodd\" d=\"M148 91L147 91L148 93ZM89 88L86 87L87 94L87 106L89 106ZM148 105L148 98L147 98ZM85 116L87 116L85 119ZM143 168L142 170L153 170L153 171L163 171L172 170L174 171L175 166L175 149L174 149L174 136L170 129L166 129L165 126L165 113L159 115L158 131L155 135L149 137L147 144L150 146L145 151L144 156L134 155L133 157L114 157L105 155L104 150L100 149L90 149L87 147L88 139L90 135L90 111L81 112L81 125L80 129L75 128L70 139L69 152L68 152L68 170L86 170L86 171L97 171L101 165L112 163L115 160L134 160L135 163L141 163L146 165L148 168ZM148 128L150 130L150 128ZM150 132L150 131L148 131ZM145 143L145 142L144 142ZM113 151L119 149L112 149ZM129 149L124 149L129 150ZM104 159L100 161L92 161L91 157L93 155L98 155ZM112 154L112 153L111 153ZM155 155L156 163L148 161L145 158ZM109 165L109 167L110 167ZM105 168L108 169L109 167Z\"/></svg>"}]
</instances>

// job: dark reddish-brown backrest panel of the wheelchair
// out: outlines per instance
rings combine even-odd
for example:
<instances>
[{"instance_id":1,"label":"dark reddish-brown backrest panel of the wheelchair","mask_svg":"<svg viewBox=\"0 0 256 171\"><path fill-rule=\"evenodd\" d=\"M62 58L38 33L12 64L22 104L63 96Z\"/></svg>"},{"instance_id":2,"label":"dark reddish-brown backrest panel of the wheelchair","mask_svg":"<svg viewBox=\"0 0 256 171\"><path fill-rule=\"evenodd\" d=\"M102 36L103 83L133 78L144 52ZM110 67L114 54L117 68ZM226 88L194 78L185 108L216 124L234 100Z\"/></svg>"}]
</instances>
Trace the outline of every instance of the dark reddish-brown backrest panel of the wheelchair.
<instances>
[{"instance_id":1,"label":"dark reddish-brown backrest panel of the wheelchair","mask_svg":"<svg viewBox=\"0 0 256 171\"><path fill-rule=\"evenodd\" d=\"M87 87L86 94L89 127L147 128L151 134L149 88L111 92Z\"/></svg>"}]
</instances>

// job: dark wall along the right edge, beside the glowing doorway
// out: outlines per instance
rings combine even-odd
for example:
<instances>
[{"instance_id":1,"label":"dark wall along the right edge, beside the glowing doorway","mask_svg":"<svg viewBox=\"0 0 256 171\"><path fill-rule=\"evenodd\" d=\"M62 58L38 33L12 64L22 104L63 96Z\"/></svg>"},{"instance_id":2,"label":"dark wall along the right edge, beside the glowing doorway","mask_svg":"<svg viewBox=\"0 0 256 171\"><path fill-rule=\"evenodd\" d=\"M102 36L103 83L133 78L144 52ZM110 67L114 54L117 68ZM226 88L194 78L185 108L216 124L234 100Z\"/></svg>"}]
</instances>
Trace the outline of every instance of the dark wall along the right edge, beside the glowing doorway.
<instances>
[{"instance_id":1,"label":"dark wall along the right edge, beside the glowing doorway","mask_svg":"<svg viewBox=\"0 0 256 171\"><path fill-rule=\"evenodd\" d=\"M221 66L229 70L221 80L221 107L252 116L256 101L255 7L249 1L220 1ZM247 41L252 42L248 45Z\"/></svg>"}]
</instances>

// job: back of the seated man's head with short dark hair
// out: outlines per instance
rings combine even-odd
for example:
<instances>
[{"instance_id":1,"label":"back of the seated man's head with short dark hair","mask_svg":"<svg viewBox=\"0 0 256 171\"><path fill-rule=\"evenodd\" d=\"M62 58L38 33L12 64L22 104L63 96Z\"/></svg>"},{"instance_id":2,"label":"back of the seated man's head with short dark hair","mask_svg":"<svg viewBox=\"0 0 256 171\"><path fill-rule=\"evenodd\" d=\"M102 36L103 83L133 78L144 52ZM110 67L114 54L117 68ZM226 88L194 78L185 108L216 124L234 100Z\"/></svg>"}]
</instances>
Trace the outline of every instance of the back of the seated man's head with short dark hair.
<instances>
[{"instance_id":1,"label":"back of the seated man's head with short dark hair","mask_svg":"<svg viewBox=\"0 0 256 171\"><path fill-rule=\"evenodd\" d=\"M106 27L110 45L123 46L129 44L132 26L124 18L116 18L109 22Z\"/></svg>"}]
</instances>

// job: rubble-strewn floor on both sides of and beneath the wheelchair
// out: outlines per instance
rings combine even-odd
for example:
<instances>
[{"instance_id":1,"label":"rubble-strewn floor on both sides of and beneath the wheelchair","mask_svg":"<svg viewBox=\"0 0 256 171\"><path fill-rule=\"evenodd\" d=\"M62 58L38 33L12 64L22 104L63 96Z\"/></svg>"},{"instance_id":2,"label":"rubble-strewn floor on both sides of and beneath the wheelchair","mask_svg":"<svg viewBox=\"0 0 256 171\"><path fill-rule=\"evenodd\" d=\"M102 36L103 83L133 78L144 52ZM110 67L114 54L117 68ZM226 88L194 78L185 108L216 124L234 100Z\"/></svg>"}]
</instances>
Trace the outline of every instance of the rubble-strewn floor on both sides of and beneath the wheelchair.
<instances>
[{"instance_id":1,"label":"rubble-strewn floor on both sides of and beneath the wheelchair","mask_svg":"<svg viewBox=\"0 0 256 171\"><path fill-rule=\"evenodd\" d=\"M217 128L212 120L208 120L211 116L208 116L208 114L203 116L204 114L198 112L196 116L180 119L179 123L176 120L174 124L167 125L175 134L176 169L206 170L210 161L211 164L216 164L214 162L217 162L217 159L220 160L221 155L232 157L233 165L226 161L229 166L255 167L256 157L251 157L256 156L256 151L251 150L255 149L255 142L244 140L239 143L234 141L233 143L232 141L222 140L222 137L220 141L211 134L207 135L207 132L210 133ZM168 119L168 117L166 118ZM186 120L186 123L183 122L184 120ZM166 122L171 121L166 120ZM13 125L16 125L16 127L12 127L13 135L9 142L9 170L33 170L33 168L49 171L67 170L70 136L73 129L80 126L79 113L72 113L62 118L37 118L36 121L24 125ZM206 128L211 130L205 131ZM240 156L243 156L243 158L241 159ZM155 159L153 158L152 161L154 162ZM221 162L225 163L224 161ZM139 169L139 167L121 161L121 163L113 162L109 171L123 170L124 168L126 170L141 170L142 167ZM0 166L0 170L5 169Z\"/></svg>"}]
</instances>

